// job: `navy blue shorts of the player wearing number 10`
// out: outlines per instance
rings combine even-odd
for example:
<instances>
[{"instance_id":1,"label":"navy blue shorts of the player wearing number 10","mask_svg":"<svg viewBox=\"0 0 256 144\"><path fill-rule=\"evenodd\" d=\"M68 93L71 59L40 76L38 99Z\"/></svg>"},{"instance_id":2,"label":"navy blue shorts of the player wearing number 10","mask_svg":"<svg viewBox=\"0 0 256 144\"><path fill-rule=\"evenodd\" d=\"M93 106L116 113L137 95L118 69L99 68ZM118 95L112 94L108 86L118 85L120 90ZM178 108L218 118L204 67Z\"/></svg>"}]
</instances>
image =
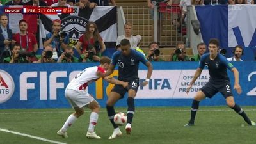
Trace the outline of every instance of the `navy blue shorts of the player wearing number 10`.
<instances>
[{"instance_id":1,"label":"navy blue shorts of the player wearing number 10","mask_svg":"<svg viewBox=\"0 0 256 144\"><path fill-rule=\"evenodd\" d=\"M134 90L137 93L138 88L140 86L139 79L132 79L131 81L128 81L128 82L129 84L127 88L124 88L122 85L116 84L114 88L111 90L111 92L119 93L121 95L120 99L124 98L125 93L128 92L130 89Z\"/></svg>"}]
</instances>

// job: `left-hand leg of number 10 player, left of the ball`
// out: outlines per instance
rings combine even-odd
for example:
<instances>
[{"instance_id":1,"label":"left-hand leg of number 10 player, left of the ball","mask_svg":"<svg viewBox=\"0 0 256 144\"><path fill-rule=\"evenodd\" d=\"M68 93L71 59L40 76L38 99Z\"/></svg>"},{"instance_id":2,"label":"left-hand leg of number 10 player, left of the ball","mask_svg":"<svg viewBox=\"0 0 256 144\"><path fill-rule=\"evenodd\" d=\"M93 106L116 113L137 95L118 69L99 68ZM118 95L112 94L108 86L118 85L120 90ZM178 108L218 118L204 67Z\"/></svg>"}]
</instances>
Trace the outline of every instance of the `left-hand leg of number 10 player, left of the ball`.
<instances>
[{"instance_id":1,"label":"left-hand leg of number 10 player, left of the ball","mask_svg":"<svg viewBox=\"0 0 256 144\"><path fill-rule=\"evenodd\" d=\"M122 135L122 132L120 131L118 125L116 125L115 122L114 122L114 116L116 114L115 109L114 109L114 105L122 97L122 95L120 95L119 93L123 93L123 91L124 90L123 90L122 86L116 85L113 88L112 92L110 92L108 100L106 102L108 117L109 117L109 120L110 120L111 124L114 127L113 134L111 136L109 136L109 139L117 138L118 136Z\"/></svg>"}]
</instances>

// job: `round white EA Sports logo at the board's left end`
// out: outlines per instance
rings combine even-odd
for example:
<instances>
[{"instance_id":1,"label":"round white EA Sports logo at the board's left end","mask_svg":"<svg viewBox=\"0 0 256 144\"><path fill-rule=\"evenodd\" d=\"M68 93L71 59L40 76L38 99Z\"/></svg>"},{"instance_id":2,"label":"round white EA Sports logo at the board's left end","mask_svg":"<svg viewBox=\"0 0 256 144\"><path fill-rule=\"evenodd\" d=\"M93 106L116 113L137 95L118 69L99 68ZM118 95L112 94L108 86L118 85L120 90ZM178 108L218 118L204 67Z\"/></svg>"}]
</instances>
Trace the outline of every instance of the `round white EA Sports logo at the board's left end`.
<instances>
[{"instance_id":1,"label":"round white EA Sports logo at the board's left end","mask_svg":"<svg viewBox=\"0 0 256 144\"><path fill-rule=\"evenodd\" d=\"M4 70L0 70L0 104L9 100L14 92L14 81L12 76Z\"/></svg>"}]
</instances>

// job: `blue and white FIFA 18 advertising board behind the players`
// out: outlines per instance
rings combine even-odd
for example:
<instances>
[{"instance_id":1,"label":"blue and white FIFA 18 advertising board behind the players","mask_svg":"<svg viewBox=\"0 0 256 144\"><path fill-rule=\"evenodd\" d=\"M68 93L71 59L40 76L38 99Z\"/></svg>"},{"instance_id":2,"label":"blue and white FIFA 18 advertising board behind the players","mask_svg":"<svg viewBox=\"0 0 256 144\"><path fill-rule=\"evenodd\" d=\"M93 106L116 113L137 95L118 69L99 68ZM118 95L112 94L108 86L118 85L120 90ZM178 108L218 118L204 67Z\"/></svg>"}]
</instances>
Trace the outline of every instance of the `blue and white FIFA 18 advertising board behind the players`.
<instances>
[{"instance_id":1,"label":"blue and white FIFA 18 advertising board behind the players","mask_svg":"<svg viewBox=\"0 0 256 144\"><path fill-rule=\"evenodd\" d=\"M256 105L256 62L233 62L239 70L241 95L234 91L238 104ZM97 63L32 63L1 64L0 74L0 109L10 108L70 108L65 99L65 86L86 67ZM150 83L140 85L136 106L190 106L193 95L209 80L205 69L196 81L191 92L186 95L186 87L191 81L198 65L197 62L158 62L153 63L154 72ZM234 83L234 76L228 70ZM112 76L118 75L117 70ZM140 83L147 75L147 67L140 65ZM99 79L90 84L88 92L104 107L113 84ZM225 105L225 99L218 93L212 99L203 100L203 106ZM117 102L116 106L126 106L126 98Z\"/></svg>"}]
</instances>

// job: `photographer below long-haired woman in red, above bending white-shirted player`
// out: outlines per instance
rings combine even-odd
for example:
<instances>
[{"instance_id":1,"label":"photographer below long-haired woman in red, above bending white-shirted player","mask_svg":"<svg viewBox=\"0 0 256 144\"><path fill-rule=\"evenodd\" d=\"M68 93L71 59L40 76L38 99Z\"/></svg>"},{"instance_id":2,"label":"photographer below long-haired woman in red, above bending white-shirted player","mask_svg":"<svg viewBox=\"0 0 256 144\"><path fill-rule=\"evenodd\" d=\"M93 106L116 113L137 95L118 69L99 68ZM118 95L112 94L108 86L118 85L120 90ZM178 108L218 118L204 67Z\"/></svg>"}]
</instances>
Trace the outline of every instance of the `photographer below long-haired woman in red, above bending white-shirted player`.
<instances>
[{"instance_id":1,"label":"photographer below long-haired woman in red, above bending white-shirted player","mask_svg":"<svg viewBox=\"0 0 256 144\"><path fill-rule=\"evenodd\" d=\"M81 54L80 60L81 62L95 62L100 61L100 57L96 55L96 50L93 45L88 45L88 51L84 51Z\"/></svg>"}]
</instances>

